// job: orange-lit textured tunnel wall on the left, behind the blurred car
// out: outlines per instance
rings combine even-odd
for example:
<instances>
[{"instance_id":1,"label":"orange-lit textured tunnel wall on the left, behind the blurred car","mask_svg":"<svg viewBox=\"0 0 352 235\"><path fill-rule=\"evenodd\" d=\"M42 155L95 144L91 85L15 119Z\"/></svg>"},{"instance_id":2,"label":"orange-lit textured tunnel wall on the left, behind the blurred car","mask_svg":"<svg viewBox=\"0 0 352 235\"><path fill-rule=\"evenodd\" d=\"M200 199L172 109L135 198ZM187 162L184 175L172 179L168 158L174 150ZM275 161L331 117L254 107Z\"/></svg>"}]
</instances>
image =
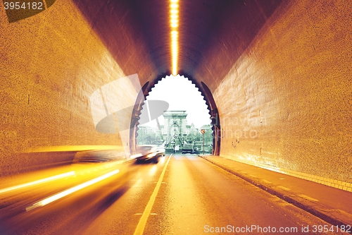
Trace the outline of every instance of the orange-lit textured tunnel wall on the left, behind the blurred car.
<instances>
[{"instance_id":1,"label":"orange-lit textured tunnel wall on the left, behind the blurred car","mask_svg":"<svg viewBox=\"0 0 352 235\"><path fill-rule=\"evenodd\" d=\"M89 97L125 74L71 1L15 23L1 8L0 61L0 176L122 145L119 134L96 131Z\"/></svg>"}]
</instances>

